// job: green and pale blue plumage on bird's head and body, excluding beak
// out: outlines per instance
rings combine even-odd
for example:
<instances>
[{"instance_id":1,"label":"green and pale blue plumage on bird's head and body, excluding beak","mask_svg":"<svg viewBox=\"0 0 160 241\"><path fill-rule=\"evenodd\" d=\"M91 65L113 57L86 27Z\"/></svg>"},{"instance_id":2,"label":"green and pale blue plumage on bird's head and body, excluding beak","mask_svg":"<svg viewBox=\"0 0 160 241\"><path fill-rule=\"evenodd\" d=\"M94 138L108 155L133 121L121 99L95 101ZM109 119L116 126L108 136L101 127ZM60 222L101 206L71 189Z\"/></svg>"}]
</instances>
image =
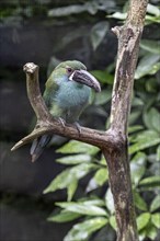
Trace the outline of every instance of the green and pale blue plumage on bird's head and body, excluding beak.
<instances>
[{"instance_id":1,"label":"green and pale blue plumage on bird's head and body, excluding beak","mask_svg":"<svg viewBox=\"0 0 160 241\"><path fill-rule=\"evenodd\" d=\"M54 117L61 117L67 123L75 123L89 102L91 89L84 84L69 81L67 66L72 70L85 70L84 65L79 61L65 61L58 65L46 82L44 100Z\"/></svg>"}]
</instances>

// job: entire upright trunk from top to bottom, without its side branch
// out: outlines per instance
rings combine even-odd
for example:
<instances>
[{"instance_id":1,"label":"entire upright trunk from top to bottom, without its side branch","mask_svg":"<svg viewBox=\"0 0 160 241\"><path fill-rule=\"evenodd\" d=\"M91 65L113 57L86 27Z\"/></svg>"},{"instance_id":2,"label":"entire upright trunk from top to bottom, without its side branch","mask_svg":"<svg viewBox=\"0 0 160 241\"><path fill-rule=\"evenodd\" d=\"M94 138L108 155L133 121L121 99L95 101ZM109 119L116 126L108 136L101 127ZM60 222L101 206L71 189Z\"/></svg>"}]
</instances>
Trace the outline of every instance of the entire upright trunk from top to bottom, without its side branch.
<instances>
[{"instance_id":1,"label":"entire upright trunk from top to bottom, without its side branch","mask_svg":"<svg viewBox=\"0 0 160 241\"><path fill-rule=\"evenodd\" d=\"M118 53L113 87L111 128L107 133L112 133L116 137L116 141L111 151L104 148L103 153L108 167L110 185L115 205L117 241L138 241L129 170L127 126L147 2L147 0L130 0L125 24L122 27L113 28L118 38Z\"/></svg>"}]
</instances>

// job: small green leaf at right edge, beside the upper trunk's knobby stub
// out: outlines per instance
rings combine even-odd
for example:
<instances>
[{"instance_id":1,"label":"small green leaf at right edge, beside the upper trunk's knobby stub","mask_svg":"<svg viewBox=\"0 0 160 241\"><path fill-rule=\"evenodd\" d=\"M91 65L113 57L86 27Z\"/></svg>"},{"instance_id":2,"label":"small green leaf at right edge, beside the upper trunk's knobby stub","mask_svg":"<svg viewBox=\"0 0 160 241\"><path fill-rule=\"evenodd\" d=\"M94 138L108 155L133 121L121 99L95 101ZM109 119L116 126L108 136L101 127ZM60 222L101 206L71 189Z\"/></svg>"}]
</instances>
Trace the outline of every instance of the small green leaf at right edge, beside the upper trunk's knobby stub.
<instances>
[{"instance_id":1,"label":"small green leaf at right edge, beside the upper trunk's knobby stub","mask_svg":"<svg viewBox=\"0 0 160 241\"><path fill-rule=\"evenodd\" d=\"M140 42L140 47L152 54L158 54L158 53L160 54L160 46L158 41L142 39Z\"/></svg>"}]
</instances>

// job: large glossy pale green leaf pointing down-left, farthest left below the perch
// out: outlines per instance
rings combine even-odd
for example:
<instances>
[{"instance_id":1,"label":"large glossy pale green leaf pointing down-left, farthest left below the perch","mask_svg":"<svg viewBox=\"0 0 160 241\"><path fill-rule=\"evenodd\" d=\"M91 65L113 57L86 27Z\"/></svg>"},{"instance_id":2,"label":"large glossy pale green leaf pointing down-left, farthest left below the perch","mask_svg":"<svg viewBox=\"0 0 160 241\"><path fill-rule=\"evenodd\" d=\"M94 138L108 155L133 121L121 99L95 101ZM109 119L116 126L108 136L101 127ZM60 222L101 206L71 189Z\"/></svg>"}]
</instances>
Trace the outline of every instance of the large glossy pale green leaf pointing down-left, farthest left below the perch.
<instances>
[{"instance_id":1,"label":"large glossy pale green leaf pointing down-left, farthest left below the perch","mask_svg":"<svg viewBox=\"0 0 160 241\"><path fill-rule=\"evenodd\" d=\"M57 175L44 191L44 193L55 192L56 190L70 188L69 192L73 192L73 186L70 186L76 180L82 179L90 171L95 170L98 167L92 163L82 163L73 168L69 168ZM75 184L75 186L77 183ZM72 191L71 191L72 190ZM70 194L71 195L71 194ZM73 195L73 194L72 194Z\"/></svg>"}]
</instances>

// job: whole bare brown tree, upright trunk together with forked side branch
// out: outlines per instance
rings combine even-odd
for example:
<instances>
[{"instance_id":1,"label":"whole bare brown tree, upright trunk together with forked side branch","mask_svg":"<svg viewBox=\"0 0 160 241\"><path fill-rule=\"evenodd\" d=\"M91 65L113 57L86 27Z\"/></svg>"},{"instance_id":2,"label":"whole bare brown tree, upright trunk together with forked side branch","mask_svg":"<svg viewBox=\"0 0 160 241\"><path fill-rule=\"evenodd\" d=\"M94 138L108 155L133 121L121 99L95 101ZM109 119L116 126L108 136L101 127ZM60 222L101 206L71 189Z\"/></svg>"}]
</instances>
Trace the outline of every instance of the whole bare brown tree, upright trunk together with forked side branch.
<instances>
[{"instance_id":1,"label":"whole bare brown tree, upright trunk together with forked side branch","mask_svg":"<svg viewBox=\"0 0 160 241\"><path fill-rule=\"evenodd\" d=\"M28 100L37 116L35 129L12 150L36 137L53 133L99 147L106 159L110 185L115 204L117 241L138 241L136 215L132 193L128 159L127 126L134 85L134 73L138 58L148 0L130 0L127 19L123 26L112 31L118 38L118 53L111 107L111 126L106 131L60 125L54 119L44 103L38 85L38 67L33 62L24 66Z\"/></svg>"}]
</instances>

